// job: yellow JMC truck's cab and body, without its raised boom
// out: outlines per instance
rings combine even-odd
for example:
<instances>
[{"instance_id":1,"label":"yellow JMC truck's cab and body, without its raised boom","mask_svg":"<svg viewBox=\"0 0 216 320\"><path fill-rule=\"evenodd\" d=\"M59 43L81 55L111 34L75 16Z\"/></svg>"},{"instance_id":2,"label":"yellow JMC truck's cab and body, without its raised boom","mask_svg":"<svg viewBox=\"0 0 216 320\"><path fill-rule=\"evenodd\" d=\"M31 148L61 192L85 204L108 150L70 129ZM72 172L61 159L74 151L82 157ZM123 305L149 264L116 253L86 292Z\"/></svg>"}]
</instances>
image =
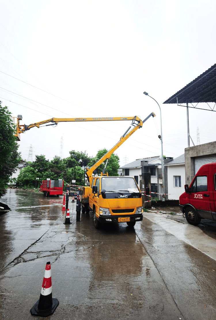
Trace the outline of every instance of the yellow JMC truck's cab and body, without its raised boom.
<instances>
[{"instance_id":1,"label":"yellow JMC truck's cab and body, without its raised boom","mask_svg":"<svg viewBox=\"0 0 216 320\"><path fill-rule=\"evenodd\" d=\"M142 196L132 177L95 177L83 192L82 212L93 211L97 229L100 224L119 222L133 227L143 218Z\"/></svg>"}]
</instances>

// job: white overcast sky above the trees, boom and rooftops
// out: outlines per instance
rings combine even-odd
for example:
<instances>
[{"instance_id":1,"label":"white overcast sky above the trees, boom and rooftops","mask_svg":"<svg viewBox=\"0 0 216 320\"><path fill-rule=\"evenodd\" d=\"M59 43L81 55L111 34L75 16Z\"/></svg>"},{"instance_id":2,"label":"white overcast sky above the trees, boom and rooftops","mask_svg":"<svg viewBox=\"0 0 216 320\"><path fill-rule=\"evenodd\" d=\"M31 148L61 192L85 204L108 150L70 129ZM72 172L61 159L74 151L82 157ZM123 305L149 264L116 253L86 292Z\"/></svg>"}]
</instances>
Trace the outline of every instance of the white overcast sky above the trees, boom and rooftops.
<instances>
[{"instance_id":1,"label":"white overcast sky above the trees, boom and rooftops","mask_svg":"<svg viewBox=\"0 0 216 320\"><path fill-rule=\"evenodd\" d=\"M161 155L160 111L143 94L147 91L162 109L164 155L184 153L186 108L163 102L216 62L215 1L0 3L0 100L13 116L22 115L21 124L52 117L144 119L154 111L156 118L149 118L116 151L124 165L125 156L132 162ZM216 140L215 116L189 109L195 145L197 127L201 144ZM73 149L95 156L101 148L112 148L129 125L121 121L32 128L21 134L19 149L27 159L32 144L33 160L40 154L51 160L59 155L62 136L64 157Z\"/></svg>"}]
</instances>

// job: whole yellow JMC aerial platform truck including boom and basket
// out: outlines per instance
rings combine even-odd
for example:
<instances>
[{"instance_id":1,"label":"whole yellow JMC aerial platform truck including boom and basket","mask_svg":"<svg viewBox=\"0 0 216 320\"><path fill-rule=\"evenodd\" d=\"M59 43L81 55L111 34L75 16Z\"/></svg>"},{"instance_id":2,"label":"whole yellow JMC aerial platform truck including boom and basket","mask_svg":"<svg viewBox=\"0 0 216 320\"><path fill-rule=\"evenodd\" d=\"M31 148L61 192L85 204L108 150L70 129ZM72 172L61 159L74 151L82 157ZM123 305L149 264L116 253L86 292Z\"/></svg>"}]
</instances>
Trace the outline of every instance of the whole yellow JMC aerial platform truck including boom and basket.
<instances>
[{"instance_id":1,"label":"whole yellow JMC aerial platform truck including boom and basket","mask_svg":"<svg viewBox=\"0 0 216 320\"><path fill-rule=\"evenodd\" d=\"M136 130L140 129L143 123L150 117L155 117L154 112L150 113L143 121L137 117L98 117L98 118L51 118L29 125L20 125L22 116L17 116L16 137L20 140L20 133L30 130L33 127L40 128L41 125L53 125L59 122L86 122L86 121L122 121L132 120L130 127L124 132L116 145L101 157L91 168L87 168L86 176L88 185L83 187L81 196L82 213L93 212L94 226L100 228L104 223L126 222L133 227L137 221L143 218L142 195L133 177L119 176L109 177L106 171L108 159L124 141L126 141ZM48 124L50 123L51 124ZM107 161L106 161L107 160ZM106 161L105 168L100 176L93 175L93 172Z\"/></svg>"}]
</instances>

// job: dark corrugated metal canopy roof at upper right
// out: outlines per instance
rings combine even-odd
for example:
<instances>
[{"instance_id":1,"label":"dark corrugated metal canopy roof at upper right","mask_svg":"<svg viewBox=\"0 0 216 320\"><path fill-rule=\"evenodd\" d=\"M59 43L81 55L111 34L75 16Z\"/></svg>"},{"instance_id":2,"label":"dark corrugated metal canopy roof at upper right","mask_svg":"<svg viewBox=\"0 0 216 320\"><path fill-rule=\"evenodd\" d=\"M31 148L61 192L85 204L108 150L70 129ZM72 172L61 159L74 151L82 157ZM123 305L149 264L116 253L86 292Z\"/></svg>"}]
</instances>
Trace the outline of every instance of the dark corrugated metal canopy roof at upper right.
<instances>
[{"instance_id":1,"label":"dark corrugated metal canopy roof at upper right","mask_svg":"<svg viewBox=\"0 0 216 320\"><path fill-rule=\"evenodd\" d=\"M216 63L164 103L216 102Z\"/></svg>"}]
</instances>

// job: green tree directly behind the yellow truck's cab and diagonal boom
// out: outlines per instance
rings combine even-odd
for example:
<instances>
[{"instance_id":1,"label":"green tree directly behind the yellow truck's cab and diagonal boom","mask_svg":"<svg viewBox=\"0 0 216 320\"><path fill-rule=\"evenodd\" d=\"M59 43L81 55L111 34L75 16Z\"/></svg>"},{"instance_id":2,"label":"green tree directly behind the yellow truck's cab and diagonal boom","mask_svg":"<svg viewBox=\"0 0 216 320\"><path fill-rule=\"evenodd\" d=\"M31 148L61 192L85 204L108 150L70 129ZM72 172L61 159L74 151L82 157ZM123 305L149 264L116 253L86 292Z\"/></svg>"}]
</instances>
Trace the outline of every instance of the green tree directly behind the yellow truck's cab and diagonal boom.
<instances>
[{"instance_id":1,"label":"green tree directly behind the yellow truck's cab and diagonal boom","mask_svg":"<svg viewBox=\"0 0 216 320\"><path fill-rule=\"evenodd\" d=\"M90 163L89 163L90 167L92 165L94 165L98 160L100 160L100 158L102 158L102 156L104 156L107 152L108 152L108 150L106 148L100 149L97 152L96 157L91 158ZM103 172L106 161L103 164L100 164L99 167L97 168L96 171L99 175L100 175L100 172ZM110 159L108 160L108 164L107 164L106 170L105 170L106 172L108 172L109 176L118 176L118 169L120 167L119 162L120 162L120 159L119 159L118 155L113 153L110 156Z\"/></svg>"}]
</instances>

